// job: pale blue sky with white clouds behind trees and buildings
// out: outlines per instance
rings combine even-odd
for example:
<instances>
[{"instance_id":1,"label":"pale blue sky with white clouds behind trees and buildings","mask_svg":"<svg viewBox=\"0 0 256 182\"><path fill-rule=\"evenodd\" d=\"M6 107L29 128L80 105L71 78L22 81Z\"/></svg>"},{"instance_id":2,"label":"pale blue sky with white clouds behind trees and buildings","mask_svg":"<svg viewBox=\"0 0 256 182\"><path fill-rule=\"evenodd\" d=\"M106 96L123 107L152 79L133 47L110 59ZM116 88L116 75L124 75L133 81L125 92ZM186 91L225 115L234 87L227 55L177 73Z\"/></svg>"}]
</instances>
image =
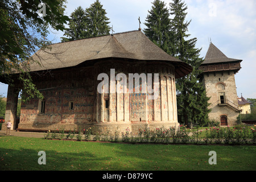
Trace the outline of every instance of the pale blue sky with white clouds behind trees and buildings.
<instances>
[{"instance_id":1,"label":"pale blue sky with white clouds behind trees and buildings","mask_svg":"<svg viewBox=\"0 0 256 182\"><path fill-rule=\"evenodd\" d=\"M154 0L100 0L110 18L110 26L115 33L138 30L151 9ZM164 1L169 7L171 0ZM197 38L197 48L202 48L204 57L209 47L209 39L226 56L242 59L242 69L235 75L237 95L256 98L256 1L255 0L185 0L189 38ZM68 0L66 15L78 6L84 9L94 0ZM63 32L51 30L48 36L53 43L60 42ZM0 94L7 95L7 85L0 82Z\"/></svg>"}]
</instances>

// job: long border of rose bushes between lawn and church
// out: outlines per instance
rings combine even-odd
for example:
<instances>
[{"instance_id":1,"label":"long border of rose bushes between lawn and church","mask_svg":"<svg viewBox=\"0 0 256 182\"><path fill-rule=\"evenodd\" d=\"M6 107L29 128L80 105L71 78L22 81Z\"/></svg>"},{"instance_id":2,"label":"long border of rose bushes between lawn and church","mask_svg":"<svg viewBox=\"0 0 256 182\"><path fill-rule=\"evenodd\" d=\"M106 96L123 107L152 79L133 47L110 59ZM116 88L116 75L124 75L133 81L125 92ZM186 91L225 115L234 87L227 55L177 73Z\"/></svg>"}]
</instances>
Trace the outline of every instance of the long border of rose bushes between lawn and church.
<instances>
[{"instance_id":1,"label":"long border of rose bushes between lawn and church","mask_svg":"<svg viewBox=\"0 0 256 182\"><path fill-rule=\"evenodd\" d=\"M139 130L134 135L129 127L123 132L115 131L110 134L95 133L93 127L88 129L69 130L64 129L48 131L45 139L76 139L78 141L102 141L102 142L129 142L129 143L165 143L165 144L255 144L255 126L237 125L234 127L209 127L202 132L187 129L180 125L168 129L160 127L151 130L145 126L144 130Z\"/></svg>"}]
</instances>

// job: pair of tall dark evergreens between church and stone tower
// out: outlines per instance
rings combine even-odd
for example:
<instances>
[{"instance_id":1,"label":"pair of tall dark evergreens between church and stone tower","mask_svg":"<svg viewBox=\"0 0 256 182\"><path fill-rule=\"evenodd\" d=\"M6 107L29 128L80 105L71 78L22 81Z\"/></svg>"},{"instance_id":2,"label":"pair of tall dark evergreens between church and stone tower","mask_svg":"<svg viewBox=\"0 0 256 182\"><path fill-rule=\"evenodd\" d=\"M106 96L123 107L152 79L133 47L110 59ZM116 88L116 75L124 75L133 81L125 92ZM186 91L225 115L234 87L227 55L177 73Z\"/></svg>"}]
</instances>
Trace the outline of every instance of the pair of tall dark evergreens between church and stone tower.
<instances>
[{"instance_id":1,"label":"pair of tall dark evergreens between church and stone tower","mask_svg":"<svg viewBox=\"0 0 256 182\"><path fill-rule=\"evenodd\" d=\"M168 54L192 66L189 75L176 79L178 121L185 125L189 122L204 125L208 121L209 98L198 78L203 58L200 57L201 49L196 48L197 39L189 39L187 34L191 20L185 20L186 10L181 0L173 0L170 11L163 1L155 0L148 11L144 33Z\"/></svg>"}]
</instances>

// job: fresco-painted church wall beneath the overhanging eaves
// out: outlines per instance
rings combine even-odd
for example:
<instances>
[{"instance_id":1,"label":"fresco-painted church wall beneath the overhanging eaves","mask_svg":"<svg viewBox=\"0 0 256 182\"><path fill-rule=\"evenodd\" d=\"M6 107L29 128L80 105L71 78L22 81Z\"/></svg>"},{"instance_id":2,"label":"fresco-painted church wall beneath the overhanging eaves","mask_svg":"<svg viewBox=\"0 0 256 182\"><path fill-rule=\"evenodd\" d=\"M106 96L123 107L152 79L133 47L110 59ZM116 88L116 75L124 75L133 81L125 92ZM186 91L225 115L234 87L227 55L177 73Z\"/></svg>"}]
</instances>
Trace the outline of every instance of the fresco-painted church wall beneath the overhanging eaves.
<instances>
[{"instance_id":1,"label":"fresco-painted church wall beneath the overhanging eaves","mask_svg":"<svg viewBox=\"0 0 256 182\"><path fill-rule=\"evenodd\" d=\"M127 78L129 73L158 73L159 85L155 89L159 97L148 100L154 93L141 93L142 85L147 85L142 80L138 85L140 93L129 93L129 86L122 85L119 89L126 90L126 93L99 93L97 86L102 80L97 80L97 76L106 73L110 78L110 69L113 68L115 76L123 73ZM106 86L114 85L116 91L118 81L121 80L109 80ZM129 79L126 83L129 85ZM69 130L96 125L100 131L106 131L118 127L125 129L133 124L159 127L177 123L175 76L171 64L105 60L93 67L52 71L46 76L35 77L35 84L44 96L45 109L42 113L43 101L38 99L22 103L20 130L61 127ZM135 84L133 89L135 91ZM134 130L138 128L134 127Z\"/></svg>"}]
</instances>

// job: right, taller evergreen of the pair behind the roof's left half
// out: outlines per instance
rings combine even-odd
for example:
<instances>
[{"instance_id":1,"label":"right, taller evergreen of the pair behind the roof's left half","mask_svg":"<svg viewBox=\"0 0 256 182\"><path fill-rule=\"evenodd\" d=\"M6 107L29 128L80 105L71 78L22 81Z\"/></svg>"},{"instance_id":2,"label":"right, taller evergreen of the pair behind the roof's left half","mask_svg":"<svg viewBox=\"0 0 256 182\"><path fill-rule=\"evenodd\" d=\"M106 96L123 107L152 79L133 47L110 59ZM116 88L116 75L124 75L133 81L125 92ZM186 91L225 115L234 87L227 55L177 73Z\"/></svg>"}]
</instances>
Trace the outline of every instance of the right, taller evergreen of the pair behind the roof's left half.
<instances>
[{"instance_id":1,"label":"right, taller evergreen of the pair behind the roof's left half","mask_svg":"<svg viewBox=\"0 0 256 182\"><path fill-rule=\"evenodd\" d=\"M106 10L102 8L100 1L94 2L86 12L86 24L89 37L100 35L109 35L110 27L108 24L109 18L106 16Z\"/></svg>"}]
</instances>

